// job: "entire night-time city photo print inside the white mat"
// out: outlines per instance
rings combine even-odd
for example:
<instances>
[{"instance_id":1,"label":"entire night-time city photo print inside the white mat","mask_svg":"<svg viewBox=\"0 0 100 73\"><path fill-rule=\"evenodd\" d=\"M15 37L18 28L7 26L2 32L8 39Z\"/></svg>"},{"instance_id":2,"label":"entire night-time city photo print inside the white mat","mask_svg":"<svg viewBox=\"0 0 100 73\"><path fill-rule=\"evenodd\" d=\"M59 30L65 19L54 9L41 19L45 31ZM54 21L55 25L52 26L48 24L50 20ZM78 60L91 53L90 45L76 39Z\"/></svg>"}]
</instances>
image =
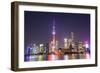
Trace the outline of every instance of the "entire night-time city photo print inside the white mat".
<instances>
[{"instance_id":1,"label":"entire night-time city photo print inside the white mat","mask_svg":"<svg viewBox=\"0 0 100 73\"><path fill-rule=\"evenodd\" d=\"M89 59L89 23L88 14L25 11L24 61Z\"/></svg>"}]
</instances>

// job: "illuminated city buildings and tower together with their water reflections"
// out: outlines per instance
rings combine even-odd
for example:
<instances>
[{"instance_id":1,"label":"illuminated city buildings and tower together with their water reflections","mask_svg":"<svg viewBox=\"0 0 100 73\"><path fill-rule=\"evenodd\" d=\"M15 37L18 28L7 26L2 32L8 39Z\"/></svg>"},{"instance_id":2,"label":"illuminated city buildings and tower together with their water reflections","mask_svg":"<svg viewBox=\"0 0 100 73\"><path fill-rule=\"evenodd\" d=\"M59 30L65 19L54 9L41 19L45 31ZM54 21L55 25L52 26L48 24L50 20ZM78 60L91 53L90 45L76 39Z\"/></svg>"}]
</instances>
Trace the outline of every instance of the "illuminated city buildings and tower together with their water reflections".
<instances>
[{"instance_id":1,"label":"illuminated city buildings and tower together with their water reflections","mask_svg":"<svg viewBox=\"0 0 100 73\"><path fill-rule=\"evenodd\" d=\"M51 41L48 43L33 43L27 46L24 52L24 61L54 61L54 60L74 60L89 59L89 41L76 41L74 32L70 32L70 38L63 38L63 47L59 47L59 40L56 36L55 20L52 29ZM49 39L49 38L48 38Z\"/></svg>"}]
</instances>

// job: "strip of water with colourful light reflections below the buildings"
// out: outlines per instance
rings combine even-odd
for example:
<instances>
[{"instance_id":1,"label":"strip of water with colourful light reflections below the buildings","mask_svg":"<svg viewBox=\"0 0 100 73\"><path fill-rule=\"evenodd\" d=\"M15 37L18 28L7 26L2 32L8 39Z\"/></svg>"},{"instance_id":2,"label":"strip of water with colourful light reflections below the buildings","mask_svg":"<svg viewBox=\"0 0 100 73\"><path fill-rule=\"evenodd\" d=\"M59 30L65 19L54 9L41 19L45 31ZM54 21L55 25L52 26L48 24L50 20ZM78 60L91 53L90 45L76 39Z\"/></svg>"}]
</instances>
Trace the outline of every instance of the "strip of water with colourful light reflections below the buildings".
<instances>
[{"instance_id":1,"label":"strip of water with colourful light reflections below the buildings","mask_svg":"<svg viewBox=\"0 0 100 73\"><path fill-rule=\"evenodd\" d=\"M77 54L77 55L68 55L65 54L63 56L58 56L55 54L49 54L49 55L30 55L25 56L24 61L53 61L53 60L69 60L69 59L89 59L90 55L86 53L85 55Z\"/></svg>"}]
</instances>

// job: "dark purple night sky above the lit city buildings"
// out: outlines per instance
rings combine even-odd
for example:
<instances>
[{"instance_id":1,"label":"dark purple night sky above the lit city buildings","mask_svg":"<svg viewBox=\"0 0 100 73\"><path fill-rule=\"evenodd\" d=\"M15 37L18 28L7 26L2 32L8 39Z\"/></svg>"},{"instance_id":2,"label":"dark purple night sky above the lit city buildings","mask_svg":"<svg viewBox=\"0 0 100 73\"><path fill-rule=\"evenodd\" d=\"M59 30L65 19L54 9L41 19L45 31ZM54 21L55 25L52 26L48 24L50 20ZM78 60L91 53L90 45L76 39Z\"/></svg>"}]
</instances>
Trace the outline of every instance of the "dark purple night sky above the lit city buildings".
<instances>
[{"instance_id":1,"label":"dark purple night sky above the lit city buildings","mask_svg":"<svg viewBox=\"0 0 100 73\"><path fill-rule=\"evenodd\" d=\"M34 43L48 43L52 39L52 26L55 21L56 38L63 42L74 32L75 40L90 40L90 14L24 12L25 46Z\"/></svg>"}]
</instances>

